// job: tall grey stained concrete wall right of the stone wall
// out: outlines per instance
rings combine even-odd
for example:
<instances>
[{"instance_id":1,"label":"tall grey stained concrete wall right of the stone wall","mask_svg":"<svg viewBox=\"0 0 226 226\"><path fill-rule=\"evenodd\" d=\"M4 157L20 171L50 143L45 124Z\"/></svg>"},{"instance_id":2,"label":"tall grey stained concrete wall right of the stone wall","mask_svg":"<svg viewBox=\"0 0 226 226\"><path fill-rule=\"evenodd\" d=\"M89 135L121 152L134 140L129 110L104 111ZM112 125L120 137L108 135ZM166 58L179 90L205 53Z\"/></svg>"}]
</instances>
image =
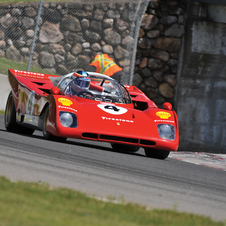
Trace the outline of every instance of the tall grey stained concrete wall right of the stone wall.
<instances>
[{"instance_id":1,"label":"tall grey stained concrete wall right of the stone wall","mask_svg":"<svg viewBox=\"0 0 226 226\"><path fill-rule=\"evenodd\" d=\"M189 4L177 91L180 150L226 153L226 7Z\"/></svg>"}]
</instances>

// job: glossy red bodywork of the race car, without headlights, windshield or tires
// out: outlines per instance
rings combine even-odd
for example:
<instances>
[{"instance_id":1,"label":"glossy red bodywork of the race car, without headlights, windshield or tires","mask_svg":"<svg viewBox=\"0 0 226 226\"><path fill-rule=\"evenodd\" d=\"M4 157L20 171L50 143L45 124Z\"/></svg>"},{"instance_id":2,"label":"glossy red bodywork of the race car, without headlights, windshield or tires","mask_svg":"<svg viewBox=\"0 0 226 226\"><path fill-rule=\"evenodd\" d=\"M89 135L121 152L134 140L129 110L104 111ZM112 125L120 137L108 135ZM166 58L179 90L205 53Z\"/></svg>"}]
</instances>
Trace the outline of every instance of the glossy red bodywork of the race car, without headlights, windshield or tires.
<instances>
[{"instance_id":1,"label":"glossy red bodywork of the race car, without headlights, windshield or tires","mask_svg":"<svg viewBox=\"0 0 226 226\"><path fill-rule=\"evenodd\" d=\"M57 93L49 79L50 76L60 77L11 69L8 71L17 113L41 118L43 110L49 105L46 127L48 133L60 137L122 143L167 151L178 149L179 128L175 111L167 110L167 107L159 109L135 86L125 86L133 103L109 104L77 96L66 97ZM53 91L50 91L51 89ZM110 106L110 110L103 110L103 106ZM124 109L124 113L115 114L114 110L111 110L112 106ZM63 127L59 119L60 111L74 113L78 126ZM41 122L38 122L36 129L42 130ZM174 140L160 138L157 124L161 123L174 125Z\"/></svg>"}]
</instances>

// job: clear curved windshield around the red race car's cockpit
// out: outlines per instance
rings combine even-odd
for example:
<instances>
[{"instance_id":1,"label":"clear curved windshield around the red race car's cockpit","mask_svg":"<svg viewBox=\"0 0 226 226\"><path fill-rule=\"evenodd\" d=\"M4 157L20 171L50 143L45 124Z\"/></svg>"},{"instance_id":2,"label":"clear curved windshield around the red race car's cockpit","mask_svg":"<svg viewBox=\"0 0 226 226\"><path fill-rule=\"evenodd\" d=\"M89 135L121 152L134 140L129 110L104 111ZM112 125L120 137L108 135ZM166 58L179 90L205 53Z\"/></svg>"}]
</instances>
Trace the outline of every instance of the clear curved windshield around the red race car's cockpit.
<instances>
[{"instance_id":1,"label":"clear curved windshield around the red race car's cockpit","mask_svg":"<svg viewBox=\"0 0 226 226\"><path fill-rule=\"evenodd\" d=\"M78 96L111 103L131 103L129 93L122 84L101 74L79 79L73 79L72 76L66 75L59 82L58 88L66 96Z\"/></svg>"}]
</instances>

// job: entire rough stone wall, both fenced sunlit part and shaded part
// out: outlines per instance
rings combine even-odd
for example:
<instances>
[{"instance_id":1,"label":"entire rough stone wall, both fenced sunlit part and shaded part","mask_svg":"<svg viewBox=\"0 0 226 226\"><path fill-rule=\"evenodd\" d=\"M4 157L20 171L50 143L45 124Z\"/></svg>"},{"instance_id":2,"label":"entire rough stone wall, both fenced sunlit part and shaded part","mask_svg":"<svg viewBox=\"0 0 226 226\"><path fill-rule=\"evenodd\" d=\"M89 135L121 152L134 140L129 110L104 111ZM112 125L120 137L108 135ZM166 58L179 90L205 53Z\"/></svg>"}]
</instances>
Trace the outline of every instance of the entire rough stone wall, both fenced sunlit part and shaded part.
<instances>
[{"instance_id":1,"label":"entire rough stone wall, both fenced sunlit part and shaded part","mask_svg":"<svg viewBox=\"0 0 226 226\"><path fill-rule=\"evenodd\" d=\"M186 2L152 0L142 18L133 84L159 106L165 101L174 105ZM0 57L28 62L38 7L0 6ZM134 3L93 7L44 2L32 64L63 75L78 67L90 70L90 53L103 52L129 76Z\"/></svg>"}]
</instances>

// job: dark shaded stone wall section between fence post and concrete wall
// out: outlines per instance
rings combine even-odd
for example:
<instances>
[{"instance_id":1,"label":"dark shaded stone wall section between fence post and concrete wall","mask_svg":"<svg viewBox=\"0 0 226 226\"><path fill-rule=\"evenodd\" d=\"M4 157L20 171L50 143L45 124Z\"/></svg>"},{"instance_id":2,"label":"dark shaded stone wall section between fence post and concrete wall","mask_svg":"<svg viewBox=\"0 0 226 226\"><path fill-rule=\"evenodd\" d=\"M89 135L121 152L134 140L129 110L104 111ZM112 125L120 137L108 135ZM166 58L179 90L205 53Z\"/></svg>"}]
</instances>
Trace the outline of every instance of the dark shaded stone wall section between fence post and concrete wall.
<instances>
[{"instance_id":1,"label":"dark shaded stone wall section between fence post and concrete wall","mask_svg":"<svg viewBox=\"0 0 226 226\"><path fill-rule=\"evenodd\" d=\"M157 105L174 105L187 1L149 3L139 32L134 85Z\"/></svg>"}]
</instances>

